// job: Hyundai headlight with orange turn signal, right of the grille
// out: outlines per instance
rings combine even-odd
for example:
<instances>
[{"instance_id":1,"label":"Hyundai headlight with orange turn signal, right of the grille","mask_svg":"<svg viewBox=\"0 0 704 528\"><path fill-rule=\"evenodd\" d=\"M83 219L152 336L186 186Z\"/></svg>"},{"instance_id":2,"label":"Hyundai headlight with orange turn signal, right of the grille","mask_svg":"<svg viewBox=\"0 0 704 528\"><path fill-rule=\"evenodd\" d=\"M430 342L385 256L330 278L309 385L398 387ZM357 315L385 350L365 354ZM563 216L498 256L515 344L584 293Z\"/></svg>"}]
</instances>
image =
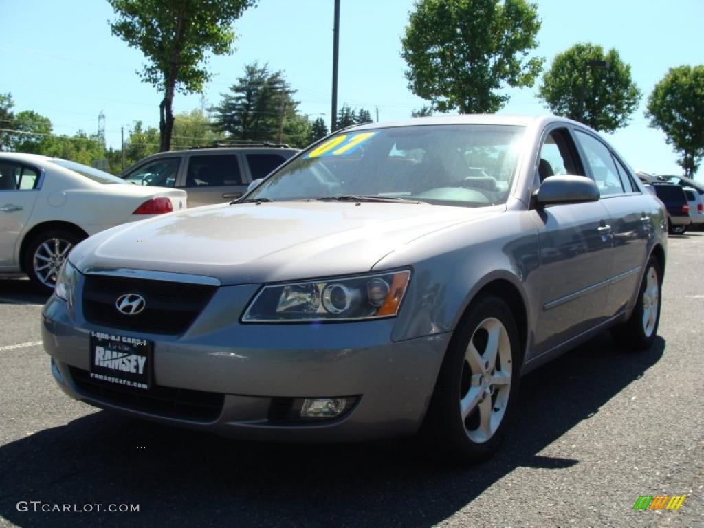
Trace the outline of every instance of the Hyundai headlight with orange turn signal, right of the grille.
<instances>
[{"instance_id":1,"label":"Hyundai headlight with orange turn signal, right of the grille","mask_svg":"<svg viewBox=\"0 0 704 528\"><path fill-rule=\"evenodd\" d=\"M263 287L242 322L345 321L394 317L410 270Z\"/></svg>"}]
</instances>

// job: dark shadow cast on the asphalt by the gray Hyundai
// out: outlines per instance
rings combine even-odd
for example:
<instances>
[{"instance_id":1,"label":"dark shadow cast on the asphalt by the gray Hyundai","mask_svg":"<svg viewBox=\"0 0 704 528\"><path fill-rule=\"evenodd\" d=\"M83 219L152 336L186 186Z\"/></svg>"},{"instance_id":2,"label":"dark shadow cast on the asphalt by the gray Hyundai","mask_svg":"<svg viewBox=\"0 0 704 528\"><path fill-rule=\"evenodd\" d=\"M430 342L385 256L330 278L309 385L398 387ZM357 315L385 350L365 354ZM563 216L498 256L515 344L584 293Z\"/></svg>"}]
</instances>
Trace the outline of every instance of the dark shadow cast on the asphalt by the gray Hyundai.
<instances>
[{"instance_id":1,"label":"dark shadow cast on the asphalt by the gray Hyundai","mask_svg":"<svg viewBox=\"0 0 704 528\"><path fill-rule=\"evenodd\" d=\"M658 337L643 353L619 351L605 333L525 377L515 429L498 455L475 467L432 460L413 442L254 444L98 411L0 448L0 515L47 527L429 527L517 467L579 464L578 455L540 453L664 350ZM19 501L139 504L139 513L34 513L31 504L20 512Z\"/></svg>"}]
</instances>

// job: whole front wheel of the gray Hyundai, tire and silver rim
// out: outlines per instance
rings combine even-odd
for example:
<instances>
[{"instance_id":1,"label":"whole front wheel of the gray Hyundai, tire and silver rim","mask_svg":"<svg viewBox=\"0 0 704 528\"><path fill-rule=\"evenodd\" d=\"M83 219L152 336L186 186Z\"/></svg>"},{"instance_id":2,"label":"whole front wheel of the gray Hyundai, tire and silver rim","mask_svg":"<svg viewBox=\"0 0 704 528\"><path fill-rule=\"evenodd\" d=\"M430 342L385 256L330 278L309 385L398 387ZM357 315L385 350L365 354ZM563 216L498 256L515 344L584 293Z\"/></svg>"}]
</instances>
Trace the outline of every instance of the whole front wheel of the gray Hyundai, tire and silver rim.
<instances>
[{"instance_id":1,"label":"whole front wheel of the gray Hyundai, tire and silver rim","mask_svg":"<svg viewBox=\"0 0 704 528\"><path fill-rule=\"evenodd\" d=\"M513 415L520 358L508 305L496 296L474 301L448 347L423 425L425 436L464 462L491 457Z\"/></svg>"}]
</instances>

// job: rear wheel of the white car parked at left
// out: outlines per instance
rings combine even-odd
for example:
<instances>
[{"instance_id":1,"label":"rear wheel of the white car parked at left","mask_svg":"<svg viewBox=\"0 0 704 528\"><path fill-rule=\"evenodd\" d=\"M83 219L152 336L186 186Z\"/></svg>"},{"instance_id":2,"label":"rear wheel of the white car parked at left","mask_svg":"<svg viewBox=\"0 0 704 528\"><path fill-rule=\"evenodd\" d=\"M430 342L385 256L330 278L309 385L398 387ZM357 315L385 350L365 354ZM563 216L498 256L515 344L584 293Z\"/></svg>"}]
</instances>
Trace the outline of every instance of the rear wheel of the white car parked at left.
<instances>
[{"instance_id":1,"label":"rear wheel of the white car parked at left","mask_svg":"<svg viewBox=\"0 0 704 528\"><path fill-rule=\"evenodd\" d=\"M34 285L51 293L61 266L73 246L86 238L65 229L49 229L35 234L27 243L23 256L24 270Z\"/></svg>"}]
</instances>

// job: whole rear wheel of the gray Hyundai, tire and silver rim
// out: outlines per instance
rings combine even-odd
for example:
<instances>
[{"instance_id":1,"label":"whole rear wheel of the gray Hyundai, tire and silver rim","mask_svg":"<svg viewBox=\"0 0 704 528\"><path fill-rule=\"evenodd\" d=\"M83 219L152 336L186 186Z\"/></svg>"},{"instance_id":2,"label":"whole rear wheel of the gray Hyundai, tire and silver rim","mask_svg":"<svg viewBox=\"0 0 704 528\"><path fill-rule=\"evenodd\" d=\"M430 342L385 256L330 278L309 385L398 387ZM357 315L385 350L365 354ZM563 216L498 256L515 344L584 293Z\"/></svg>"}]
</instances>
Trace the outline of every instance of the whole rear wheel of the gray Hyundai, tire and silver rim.
<instances>
[{"instance_id":1,"label":"whole rear wheel of the gray Hyundai, tire and silver rim","mask_svg":"<svg viewBox=\"0 0 704 528\"><path fill-rule=\"evenodd\" d=\"M655 341L658 325L660 325L661 283L660 263L656 258L650 257L631 318L616 327L613 332L622 346L643 350L650 348Z\"/></svg>"}]
</instances>

